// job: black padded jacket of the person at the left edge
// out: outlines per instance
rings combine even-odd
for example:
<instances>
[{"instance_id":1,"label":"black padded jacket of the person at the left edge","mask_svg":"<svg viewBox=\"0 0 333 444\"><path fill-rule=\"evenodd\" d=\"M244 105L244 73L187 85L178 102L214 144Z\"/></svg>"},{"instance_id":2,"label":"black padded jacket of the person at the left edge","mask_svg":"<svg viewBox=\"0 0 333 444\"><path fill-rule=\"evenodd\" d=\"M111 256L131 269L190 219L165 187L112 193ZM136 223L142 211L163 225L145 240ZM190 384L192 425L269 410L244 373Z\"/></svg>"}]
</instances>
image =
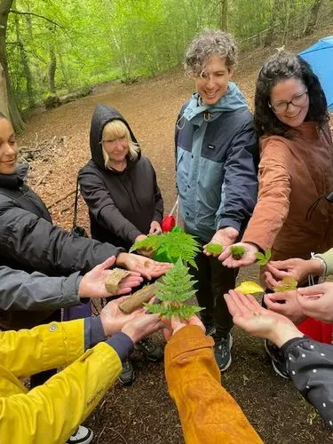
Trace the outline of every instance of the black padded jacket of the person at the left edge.
<instances>
[{"instance_id":1,"label":"black padded jacket of the person at the left edge","mask_svg":"<svg viewBox=\"0 0 333 444\"><path fill-rule=\"evenodd\" d=\"M49 276L87 272L120 250L86 238L75 238L52 219L44 202L24 178L28 165L18 165L11 175L0 174L0 266L38 271ZM52 312L4 312L4 328L30 328Z\"/></svg>"}]
</instances>

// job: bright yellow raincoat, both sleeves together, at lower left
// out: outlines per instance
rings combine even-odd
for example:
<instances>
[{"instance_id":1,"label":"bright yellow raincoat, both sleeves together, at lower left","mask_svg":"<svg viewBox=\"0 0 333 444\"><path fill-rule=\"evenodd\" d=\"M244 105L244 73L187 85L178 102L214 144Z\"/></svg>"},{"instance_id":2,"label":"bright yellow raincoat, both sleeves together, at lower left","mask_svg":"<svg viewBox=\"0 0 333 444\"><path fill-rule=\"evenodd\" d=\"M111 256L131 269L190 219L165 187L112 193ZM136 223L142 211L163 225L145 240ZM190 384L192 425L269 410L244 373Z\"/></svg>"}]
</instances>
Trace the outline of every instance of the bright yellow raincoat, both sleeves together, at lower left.
<instances>
[{"instance_id":1,"label":"bright yellow raincoat, both sleeves together, at lower left","mask_svg":"<svg viewBox=\"0 0 333 444\"><path fill-rule=\"evenodd\" d=\"M84 353L83 342L83 320L0 332L1 443L64 444L90 415L122 363L110 345ZM30 392L19 380L62 366L67 368Z\"/></svg>"}]
</instances>

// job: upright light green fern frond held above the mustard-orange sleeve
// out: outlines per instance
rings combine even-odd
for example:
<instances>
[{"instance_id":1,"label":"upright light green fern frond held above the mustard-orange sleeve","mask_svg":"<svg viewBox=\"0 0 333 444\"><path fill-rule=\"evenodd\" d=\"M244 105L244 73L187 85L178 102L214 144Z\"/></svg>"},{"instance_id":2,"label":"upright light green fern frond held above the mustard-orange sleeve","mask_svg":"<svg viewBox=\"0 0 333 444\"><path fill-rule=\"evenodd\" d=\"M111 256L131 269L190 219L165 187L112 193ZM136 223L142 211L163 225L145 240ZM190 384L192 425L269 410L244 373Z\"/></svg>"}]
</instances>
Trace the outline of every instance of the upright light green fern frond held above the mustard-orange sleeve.
<instances>
[{"instance_id":1,"label":"upright light green fern frond held above the mustard-orange sleeve","mask_svg":"<svg viewBox=\"0 0 333 444\"><path fill-rule=\"evenodd\" d=\"M195 281L188 274L188 267L178 259L175 266L163 276L162 282L156 282L156 297L161 304L145 304L151 313L160 313L166 318L177 316L187 319L194 313L202 310L197 305L184 305L183 303L194 297L193 288Z\"/></svg>"}]
</instances>

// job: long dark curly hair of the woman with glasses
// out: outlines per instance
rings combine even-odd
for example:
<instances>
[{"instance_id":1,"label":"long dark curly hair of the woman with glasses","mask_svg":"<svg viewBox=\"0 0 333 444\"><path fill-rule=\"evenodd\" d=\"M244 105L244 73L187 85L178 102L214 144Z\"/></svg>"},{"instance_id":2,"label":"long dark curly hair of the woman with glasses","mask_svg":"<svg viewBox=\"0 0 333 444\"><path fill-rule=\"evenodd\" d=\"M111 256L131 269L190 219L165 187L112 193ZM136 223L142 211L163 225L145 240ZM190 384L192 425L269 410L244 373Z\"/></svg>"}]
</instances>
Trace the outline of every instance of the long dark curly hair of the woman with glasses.
<instances>
[{"instance_id":1,"label":"long dark curly hair of the woman with glasses","mask_svg":"<svg viewBox=\"0 0 333 444\"><path fill-rule=\"evenodd\" d=\"M254 112L254 126L258 136L267 134L293 138L295 131L282 123L269 107L273 87L290 78L299 79L307 88L309 111L305 120L317 123L319 128L329 121L325 93L317 75L304 59L296 54L281 51L266 60L259 71Z\"/></svg>"}]
</instances>

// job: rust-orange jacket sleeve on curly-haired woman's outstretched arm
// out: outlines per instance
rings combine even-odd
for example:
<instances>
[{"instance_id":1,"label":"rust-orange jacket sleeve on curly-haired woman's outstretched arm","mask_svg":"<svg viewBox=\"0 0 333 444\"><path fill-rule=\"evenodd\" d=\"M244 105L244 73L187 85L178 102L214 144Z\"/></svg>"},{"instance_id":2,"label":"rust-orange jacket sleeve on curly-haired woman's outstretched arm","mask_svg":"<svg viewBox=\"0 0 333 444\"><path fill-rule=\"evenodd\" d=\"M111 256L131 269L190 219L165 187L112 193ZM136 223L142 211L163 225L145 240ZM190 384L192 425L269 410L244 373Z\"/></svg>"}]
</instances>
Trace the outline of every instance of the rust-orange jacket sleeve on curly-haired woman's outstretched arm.
<instances>
[{"instance_id":1,"label":"rust-orange jacket sleeve on curly-haired woman's outstretched arm","mask_svg":"<svg viewBox=\"0 0 333 444\"><path fill-rule=\"evenodd\" d=\"M259 163L258 202L242 242L253 242L262 250L271 249L289 213L289 147L277 140L269 142Z\"/></svg>"}]
</instances>

